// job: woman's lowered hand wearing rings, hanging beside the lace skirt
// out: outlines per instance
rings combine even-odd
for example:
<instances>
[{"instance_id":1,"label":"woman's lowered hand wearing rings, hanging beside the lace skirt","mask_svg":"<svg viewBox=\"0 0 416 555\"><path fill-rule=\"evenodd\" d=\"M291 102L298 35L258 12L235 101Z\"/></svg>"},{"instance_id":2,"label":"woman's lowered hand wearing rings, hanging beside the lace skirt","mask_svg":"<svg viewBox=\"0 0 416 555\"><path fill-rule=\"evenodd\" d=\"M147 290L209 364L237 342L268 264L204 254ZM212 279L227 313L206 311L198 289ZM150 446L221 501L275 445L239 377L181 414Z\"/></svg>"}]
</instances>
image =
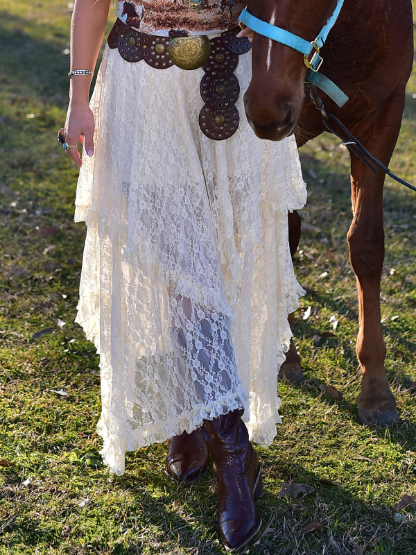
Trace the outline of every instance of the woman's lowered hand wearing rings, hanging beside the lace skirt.
<instances>
[{"instance_id":1,"label":"woman's lowered hand wearing rings, hanging beside the lace skirt","mask_svg":"<svg viewBox=\"0 0 416 555\"><path fill-rule=\"evenodd\" d=\"M80 141L84 145L87 155L94 154L94 115L87 103L69 103L64 137L69 146L78 146L78 141ZM78 148L68 148L65 152L71 156L78 167L83 165Z\"/></svg>"}]
</instances>

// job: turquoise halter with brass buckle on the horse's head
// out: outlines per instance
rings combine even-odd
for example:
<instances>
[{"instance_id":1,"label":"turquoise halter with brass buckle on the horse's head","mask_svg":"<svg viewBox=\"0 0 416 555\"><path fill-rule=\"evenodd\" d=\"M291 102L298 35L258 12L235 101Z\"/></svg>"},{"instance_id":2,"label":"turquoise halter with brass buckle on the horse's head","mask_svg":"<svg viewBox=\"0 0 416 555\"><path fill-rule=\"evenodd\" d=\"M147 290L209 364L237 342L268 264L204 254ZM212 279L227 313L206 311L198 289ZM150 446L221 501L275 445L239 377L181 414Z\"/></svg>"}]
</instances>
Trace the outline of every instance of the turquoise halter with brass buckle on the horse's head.
<instances>
[{"instance_id":1,"label":"turquoise halter with brass buckle on the horse's head","mask_svg":"<svg viewBox=\"0 0 416 555\"><path fill-rule=\"evenodd\" d=\"M320 49L325 44L329 31L331 31L331 28L333 28L338 19L338 15L340 15L343 3L344 0L337 0L333 14L329 17L327 23L322 27L320 33L318 33L318 36L312 42L308 42L297 35L293 35L293 33L289 33L289 31L285 31L281 27L263 22L262 19L254 17L254 15L245 8L241 12L239 19L241 23L248 26L255 33L259 33L259 35L263 35L263 37L268 37L271 40L290 46L297 52L302 53L304 55L304 63L308 68L305 83L316 85L341 107L347 102L348 96L344 94L335 83L320 74L318 69L320 69L324 61L320 56Z\"/></svg>"}]
</instances>

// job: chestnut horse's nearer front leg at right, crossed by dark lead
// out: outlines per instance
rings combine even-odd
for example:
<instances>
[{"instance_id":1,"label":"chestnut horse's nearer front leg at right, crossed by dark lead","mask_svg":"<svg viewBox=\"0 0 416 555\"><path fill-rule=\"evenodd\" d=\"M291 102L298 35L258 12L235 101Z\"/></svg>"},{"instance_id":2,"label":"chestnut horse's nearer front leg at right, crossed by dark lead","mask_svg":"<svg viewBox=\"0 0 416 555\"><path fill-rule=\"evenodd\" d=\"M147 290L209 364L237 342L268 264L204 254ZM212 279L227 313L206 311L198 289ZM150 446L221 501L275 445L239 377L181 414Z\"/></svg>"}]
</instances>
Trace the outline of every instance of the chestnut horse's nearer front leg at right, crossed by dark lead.
<instances>
[{"instance_id":1,"label":"chestnut horse's nearer front leg at right, crossed by dark lead","mask_svg":"<svg viewBox=\"0 0 416 555\"><path fill-rule=\"evenodd\" d=\"M367 148L388 164L399 134L403 96L392 101L378 119L380 128L366 141ZM400 102L401 101L401 102ZM363 371L358 395L361 424L391 425L397 422L395 397L385 376L385 343L381 330L380 281L384 259L383 182L352 155L352 208L354 218L348 232L349 257L358 287L359 332L356 353Z\"/></svg>"}]
</instances>

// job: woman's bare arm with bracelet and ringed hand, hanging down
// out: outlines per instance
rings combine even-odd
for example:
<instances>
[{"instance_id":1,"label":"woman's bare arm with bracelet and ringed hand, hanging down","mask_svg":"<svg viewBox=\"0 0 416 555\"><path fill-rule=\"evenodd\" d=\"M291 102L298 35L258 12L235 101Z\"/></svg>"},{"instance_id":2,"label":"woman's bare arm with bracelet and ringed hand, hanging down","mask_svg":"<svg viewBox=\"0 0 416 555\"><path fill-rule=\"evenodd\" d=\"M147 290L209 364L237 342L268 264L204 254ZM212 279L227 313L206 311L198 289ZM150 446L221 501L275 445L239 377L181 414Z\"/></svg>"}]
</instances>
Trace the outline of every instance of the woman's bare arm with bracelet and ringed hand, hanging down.
<instances>
[{"instance_id":1,"label":"woman's bare arm with bracelet and ringed hand, hanging down","mask_svg":"<svg viewBox=\"0 0 416 555\"><path fill-rule=\"evenodd\" d=\"M103 42L105 25L111 0L76 0L71 22L71 70L94 71L98 53ZM64 135L69 145L85 143L89 156L94 153L94 116L89 109L89 87L92 76L77 75L70 79L69 107ZM80 167L78 148L66 151Z\"/></svg>"}]
</instances>

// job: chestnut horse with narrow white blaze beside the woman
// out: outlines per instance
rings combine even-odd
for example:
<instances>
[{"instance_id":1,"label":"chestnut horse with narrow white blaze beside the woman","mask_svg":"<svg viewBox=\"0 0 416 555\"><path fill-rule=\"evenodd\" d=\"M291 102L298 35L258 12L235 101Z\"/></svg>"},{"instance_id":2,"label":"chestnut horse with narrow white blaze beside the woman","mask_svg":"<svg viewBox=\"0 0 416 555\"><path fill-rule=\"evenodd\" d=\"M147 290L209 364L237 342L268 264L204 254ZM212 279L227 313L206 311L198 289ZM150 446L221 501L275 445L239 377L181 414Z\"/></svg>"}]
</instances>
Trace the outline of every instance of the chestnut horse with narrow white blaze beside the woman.
<instances>
[{"instance_id":1,"label":"chestnut horse with narrow white blaze beside the woman","mask_svg":"<svg viewBox=\"0 0 416 555\"><path fill-rule=\"evenodd\" d=\"M336 0L248 0L259 19L313 41L332 14ZM348 0L321 49L320 72L349 96L336 115L363 145L388 165L404 110L405 87L413 64L413 16L410 0ZM302 146L324 131L322 117L305 99L306 66L301 53L257 33L252 42L252 81L245 112L261 139L279 141L295 133ZM347 241L356 273L359 332L356 353L363 370L358 416L361 423L397 421L395 397L384 370L385 343L380 323L380 280L384 258L383 182L351 155L353 220ZM291 250L300 239L300 218L289 214ZM293 319L293 316L292 316ZM300 370L295 346L281 372Z\"/></svg>"}]
</instances>

